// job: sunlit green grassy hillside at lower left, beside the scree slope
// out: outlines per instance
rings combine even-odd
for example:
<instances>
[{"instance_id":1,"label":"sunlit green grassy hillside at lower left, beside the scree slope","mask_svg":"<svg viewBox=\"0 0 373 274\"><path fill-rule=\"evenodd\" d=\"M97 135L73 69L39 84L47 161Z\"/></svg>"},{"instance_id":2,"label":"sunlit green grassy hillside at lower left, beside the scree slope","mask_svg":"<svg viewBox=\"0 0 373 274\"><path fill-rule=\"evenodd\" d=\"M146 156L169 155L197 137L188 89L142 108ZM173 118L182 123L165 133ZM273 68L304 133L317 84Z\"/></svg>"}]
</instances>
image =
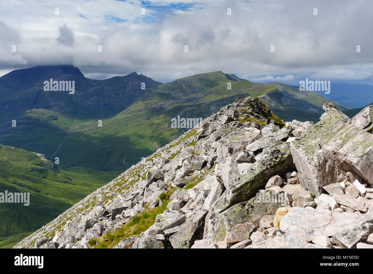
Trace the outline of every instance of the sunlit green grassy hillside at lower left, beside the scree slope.
<instances>
[{"instance_id":1,"label":"sunlit green grassy hillside at lower left, beside the scree slope","mask_svg":"<svg viewBox=\"0 0 373 274\"><path fill-rule=\"evenodd\" d=\"M56 169L32 152L0 145L0 192L30 193L29 206L0 204L0 237L39 229L117 175L94 169Z\"/></svg>"}]
</instances>

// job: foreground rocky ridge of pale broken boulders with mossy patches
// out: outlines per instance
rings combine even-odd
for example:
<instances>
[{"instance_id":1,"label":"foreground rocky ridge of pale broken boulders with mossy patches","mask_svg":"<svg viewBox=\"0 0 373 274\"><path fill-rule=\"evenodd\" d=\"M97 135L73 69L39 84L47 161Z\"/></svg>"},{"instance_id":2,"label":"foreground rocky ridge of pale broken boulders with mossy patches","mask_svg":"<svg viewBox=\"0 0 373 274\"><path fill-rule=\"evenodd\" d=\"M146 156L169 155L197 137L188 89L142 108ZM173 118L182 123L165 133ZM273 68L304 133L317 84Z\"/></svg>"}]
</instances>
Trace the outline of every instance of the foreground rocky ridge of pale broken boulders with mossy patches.
<instances>
[{"instance_id":1,"label":"foreground rocky ridge of pale broken boulders with mossy patches","mask_svg":"<svg viewBox=\"0 0 373 274\"><path fill-rule=\"evenodd\" d=\"M373 105L238 97L15 248L373 248Z\"/></svg>"}]
</instances>

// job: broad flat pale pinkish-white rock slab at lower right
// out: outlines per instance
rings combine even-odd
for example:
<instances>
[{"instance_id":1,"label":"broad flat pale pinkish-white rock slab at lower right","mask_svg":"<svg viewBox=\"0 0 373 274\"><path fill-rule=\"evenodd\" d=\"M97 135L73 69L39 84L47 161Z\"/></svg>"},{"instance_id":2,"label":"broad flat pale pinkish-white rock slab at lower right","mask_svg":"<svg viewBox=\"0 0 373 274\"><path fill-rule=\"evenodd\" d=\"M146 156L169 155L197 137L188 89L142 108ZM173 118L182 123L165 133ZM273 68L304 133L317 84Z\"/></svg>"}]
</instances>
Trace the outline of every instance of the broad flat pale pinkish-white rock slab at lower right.
<instances>
[{"instance_id":1,"label":"broad flat pale pinkish-white rock slab at lower right","mask_svg":"<svg viewBox=\"0 0 373 274\"><path fill-rule=\"evenodd\" d=\"M351 230L372 222L373 217L366 214L292 207L280 221L280 230L310 242L319 236L330 237L341 230Z\"/></svg>"}]
</instances>

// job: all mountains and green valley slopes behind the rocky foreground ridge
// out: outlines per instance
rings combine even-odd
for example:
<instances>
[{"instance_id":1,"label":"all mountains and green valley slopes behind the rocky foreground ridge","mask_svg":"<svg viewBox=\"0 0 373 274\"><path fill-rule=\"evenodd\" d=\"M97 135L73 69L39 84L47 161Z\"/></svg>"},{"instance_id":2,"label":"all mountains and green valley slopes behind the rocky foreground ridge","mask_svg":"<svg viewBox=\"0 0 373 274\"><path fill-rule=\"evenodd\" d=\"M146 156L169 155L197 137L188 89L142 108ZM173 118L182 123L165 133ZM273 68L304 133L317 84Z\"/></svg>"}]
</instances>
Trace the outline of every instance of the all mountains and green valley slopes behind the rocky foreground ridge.
<instances>
[{"instance_id":1,"label":"all mountains and green valley slopes behind the rocky foreground ridge","mask_svg":"<svg viewBox=\"0 0 373 274\"><path fill-rule=\"evenodd\" d=\"M74 81L74 94L44 91L50 79ZM27 212L1 205L0 237L38 229L178 138L188 128L172 128L174 117L205 119L239 95L252 95L285 121L317 122L329 101L297 86L256 84L221 71L162 84L136 72L88 79L70 65L12 71L0 77L0 94L0 186L31 192L35 201ZM332 103L350 117L358 112Z\"/></svg>"}]
</instances>

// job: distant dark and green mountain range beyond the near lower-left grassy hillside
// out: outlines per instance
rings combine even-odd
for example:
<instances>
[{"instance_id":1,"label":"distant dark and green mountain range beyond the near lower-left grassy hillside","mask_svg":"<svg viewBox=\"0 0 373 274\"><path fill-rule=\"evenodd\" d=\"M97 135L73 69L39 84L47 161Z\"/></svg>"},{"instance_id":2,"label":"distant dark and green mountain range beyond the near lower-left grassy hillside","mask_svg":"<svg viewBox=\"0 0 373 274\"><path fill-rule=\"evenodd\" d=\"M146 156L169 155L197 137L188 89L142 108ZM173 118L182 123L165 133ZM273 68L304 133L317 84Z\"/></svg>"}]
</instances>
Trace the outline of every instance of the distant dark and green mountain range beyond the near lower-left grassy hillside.
<instances>
[{"instance_id":1,"label":"distant dark and green mountain range beyond the near lower-left grassy hillside","mask_svg":"<svg viewBox=\"0 0 373 274\"><path fill-rule=\"evenodd\" d=\"M75 93L43 91L50 78L75 81ZM15 70L0 78L0 92L0 144L59 157L61 167L100 170L123 170L179 136L184 130L170 127L173 117L206 118L238 95L258 97L284 120L316 122L328 101L295 86L255 84L223 72L161 84L135 72L92 80L73 66Z\"/></svg>"}]
</instances>

